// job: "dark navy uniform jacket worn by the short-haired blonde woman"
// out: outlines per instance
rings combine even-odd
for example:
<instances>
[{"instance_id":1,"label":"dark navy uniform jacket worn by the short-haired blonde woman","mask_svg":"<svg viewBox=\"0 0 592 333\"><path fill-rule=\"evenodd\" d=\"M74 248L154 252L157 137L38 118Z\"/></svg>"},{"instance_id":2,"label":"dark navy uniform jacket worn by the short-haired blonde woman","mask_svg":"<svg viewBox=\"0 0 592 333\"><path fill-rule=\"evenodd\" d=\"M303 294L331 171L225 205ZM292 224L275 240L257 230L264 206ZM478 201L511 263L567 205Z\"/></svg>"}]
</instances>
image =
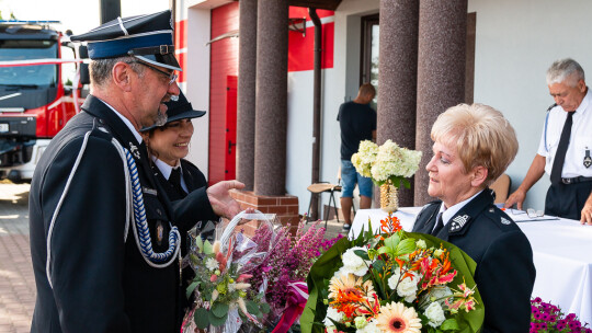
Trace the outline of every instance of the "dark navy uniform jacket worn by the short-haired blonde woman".
<instances>
[{"instance_id":1,"label":"dark navy uniform jacket worn by the short-haired blonde woman","mask_svg":"<svg viewBox=\"0 0 592 333\"><path fill-rule=\"evenodd\" d=\"M428 204L413 232L431 233L442 202ZM533 251L526 236L493 205L489 188L463 207L437 238L465 251L475 262L475 282L485 305L482 332L528 332L535 280Z\"/></svg>"}]
</instances>

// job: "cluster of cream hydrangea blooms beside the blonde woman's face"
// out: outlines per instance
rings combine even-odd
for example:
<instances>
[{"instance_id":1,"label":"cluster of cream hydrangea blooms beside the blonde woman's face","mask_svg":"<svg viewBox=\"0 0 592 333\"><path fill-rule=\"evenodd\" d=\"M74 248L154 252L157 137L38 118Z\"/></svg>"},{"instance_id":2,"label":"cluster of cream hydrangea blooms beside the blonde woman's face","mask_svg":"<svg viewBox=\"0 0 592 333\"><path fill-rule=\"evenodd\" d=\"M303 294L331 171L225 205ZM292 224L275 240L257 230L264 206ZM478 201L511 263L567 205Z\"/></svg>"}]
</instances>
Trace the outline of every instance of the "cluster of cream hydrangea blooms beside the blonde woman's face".
<instances>
[{"instance_id":1,"label":"cluster of cream hydrangea blooms beside the blonde woman's face","mask_svg":"<svg viewBox=\"0 0 592 333\"><path fill-rule=\"evenodd\" d=\"M377 185L389 183L396 187L401 184L409 187L407 179L418 171L421 154L421 151L399 147L391 140L382 146L364 140L352 156L352 164L357 173L371 177Z\"/></svg>"}]
</instances>

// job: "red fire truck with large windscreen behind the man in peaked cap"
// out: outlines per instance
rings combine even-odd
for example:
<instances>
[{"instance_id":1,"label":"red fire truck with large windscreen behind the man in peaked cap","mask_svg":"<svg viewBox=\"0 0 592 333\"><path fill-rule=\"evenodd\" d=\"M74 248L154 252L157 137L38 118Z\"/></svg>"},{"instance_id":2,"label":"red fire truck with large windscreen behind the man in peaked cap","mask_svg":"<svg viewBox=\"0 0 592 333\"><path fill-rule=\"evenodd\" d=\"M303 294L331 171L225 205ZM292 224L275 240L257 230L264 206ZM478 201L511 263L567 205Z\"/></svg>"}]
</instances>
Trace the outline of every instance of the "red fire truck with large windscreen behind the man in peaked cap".
<instances>
[{"instance_id":1,"label":"red fire truck with large windscreen behind the man in peaked cap","mask_svg":"<svg viewBox=\"0 0 592 333\"><path fill-rule=\"evenodd\" d=\"M77 49L58 24L0 21L0 180L30 181L82 103Z\"/></svg>"}]
</instances>

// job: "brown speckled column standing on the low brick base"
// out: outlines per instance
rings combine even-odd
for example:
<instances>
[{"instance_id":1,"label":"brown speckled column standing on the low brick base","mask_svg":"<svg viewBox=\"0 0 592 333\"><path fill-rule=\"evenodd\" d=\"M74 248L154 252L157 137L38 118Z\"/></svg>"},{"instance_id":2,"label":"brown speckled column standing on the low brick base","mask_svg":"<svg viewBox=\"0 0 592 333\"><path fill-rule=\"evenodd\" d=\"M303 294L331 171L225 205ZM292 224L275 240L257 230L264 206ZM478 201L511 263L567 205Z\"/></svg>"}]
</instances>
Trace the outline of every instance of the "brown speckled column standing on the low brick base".
<instances>
[{"instance_id":1,"label":"brown speckled column standing on the low brick base","mask_svg":"<svg viewBox=\"0 0 592 333\"><path fill-rule=\"evenodd\" d=\"M288 2L258 4L254 193L285 195Z\"/></svg>"}]
</instances>

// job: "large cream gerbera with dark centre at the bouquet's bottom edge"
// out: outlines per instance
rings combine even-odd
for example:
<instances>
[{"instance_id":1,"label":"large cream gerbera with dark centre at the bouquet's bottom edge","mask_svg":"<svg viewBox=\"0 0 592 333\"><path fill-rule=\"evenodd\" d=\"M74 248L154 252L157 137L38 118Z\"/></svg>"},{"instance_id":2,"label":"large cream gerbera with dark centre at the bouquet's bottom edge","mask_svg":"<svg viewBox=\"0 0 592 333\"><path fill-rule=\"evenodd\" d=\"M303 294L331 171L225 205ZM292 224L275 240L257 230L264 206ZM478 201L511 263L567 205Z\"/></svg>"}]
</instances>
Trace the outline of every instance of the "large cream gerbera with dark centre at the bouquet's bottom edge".
<instances>
[{"instance_id":1,"label":"large cream gerbera with dark centre at the bouquet's bottom edge","mask_svg":"<svg viewBox=\"0 0 592 333\"><path fill-rule=\"evenodd\" d=\"M413 308L403 303L391 302L380 308L376 318L377 326L383 332L420 333L421 320Z\"/></svg>"}]
</instances>

